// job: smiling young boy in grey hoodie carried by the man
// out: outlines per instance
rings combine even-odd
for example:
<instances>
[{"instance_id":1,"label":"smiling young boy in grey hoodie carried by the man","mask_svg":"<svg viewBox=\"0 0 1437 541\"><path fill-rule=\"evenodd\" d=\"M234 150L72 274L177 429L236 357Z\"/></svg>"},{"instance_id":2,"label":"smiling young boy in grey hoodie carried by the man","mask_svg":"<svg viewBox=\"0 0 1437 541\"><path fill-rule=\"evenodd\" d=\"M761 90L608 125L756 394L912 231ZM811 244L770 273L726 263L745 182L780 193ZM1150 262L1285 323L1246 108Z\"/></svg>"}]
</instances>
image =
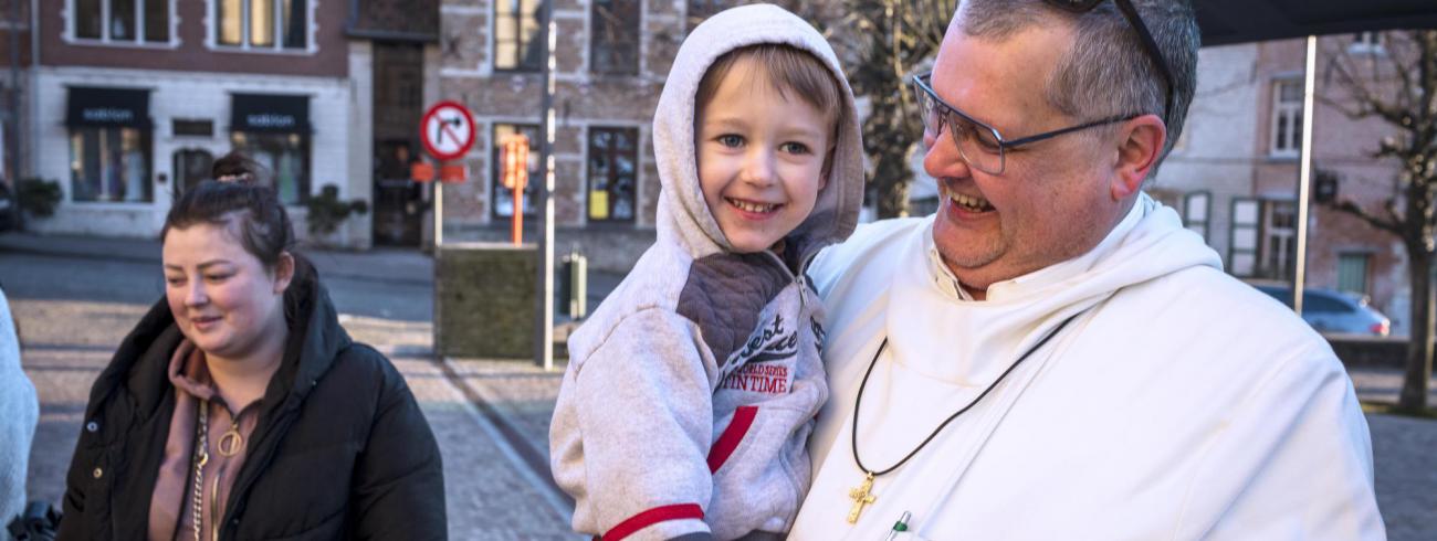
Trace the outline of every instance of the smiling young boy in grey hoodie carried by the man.
<instances>
[{"instance_id":1,"label":"smiling young boy in grey hoodie carried by the man","mask_svg":"<svg viewBox=\"0 0 1437 541\"><path fill-rule=\"evenodd\" d=\"M862 199L854 96L812 26L731 9L678 50L654 151L658 241L569 340L555 479L604 540L777 538L828 397L803 268Z\"/></svg>"}]
</instances>

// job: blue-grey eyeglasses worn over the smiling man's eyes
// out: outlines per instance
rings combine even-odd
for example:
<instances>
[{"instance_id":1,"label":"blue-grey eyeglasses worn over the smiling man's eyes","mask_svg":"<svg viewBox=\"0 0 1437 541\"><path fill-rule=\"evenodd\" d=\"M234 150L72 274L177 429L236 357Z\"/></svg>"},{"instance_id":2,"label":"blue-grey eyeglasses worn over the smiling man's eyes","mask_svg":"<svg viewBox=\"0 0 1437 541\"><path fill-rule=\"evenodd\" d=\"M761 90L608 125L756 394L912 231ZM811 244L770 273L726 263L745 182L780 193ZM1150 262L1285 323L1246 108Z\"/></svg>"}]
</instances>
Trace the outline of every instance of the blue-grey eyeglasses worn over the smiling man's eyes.
<instances>
[{"instance_id":1,"label":"blue-grey eyeglasses worn over the smiling man's eyes","mask_svg":"<svg viewBox=\"0 0 1437 541\"><path fill-rule=\"evenodd\" d=\"M933 92L931 79L933 73L912 77L914 95L918 96L918 115L923 116L924 138L937 139L943 132L943 128L947 128L948 138L958 146L958 155L963 156L963 161L967 162L969 166L989 175L1003 174L1003 169L1007 165L1007 149L1010 148L1052 139L1063 133L1072 133L1088 128L1129 121L1138 116L1109 116L1101 121L1079 123L1076 126L1029 135L1022 139L1006 139L997 132L997 128L983 123L981 121L969 116L940 99L938 95Z\"/></svg>"}]
</instances>

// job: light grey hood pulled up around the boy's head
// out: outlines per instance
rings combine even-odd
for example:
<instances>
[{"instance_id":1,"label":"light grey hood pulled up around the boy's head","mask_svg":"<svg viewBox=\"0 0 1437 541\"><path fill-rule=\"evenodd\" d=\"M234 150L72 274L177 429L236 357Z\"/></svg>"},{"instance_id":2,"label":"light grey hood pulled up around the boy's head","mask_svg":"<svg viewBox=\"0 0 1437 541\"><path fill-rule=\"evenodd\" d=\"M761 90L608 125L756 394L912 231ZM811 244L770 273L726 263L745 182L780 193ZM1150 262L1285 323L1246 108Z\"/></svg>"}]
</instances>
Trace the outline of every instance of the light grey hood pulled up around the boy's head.
<instances>
[{"instance_id":1,"label":"light grey hood pulled up around the boy's head","mask_svg":"<svg viewBox=\"0 0 1437 541\"><path fill-rule=\"evenodd\" d=\"M654 113L654 154L662 187L658 201L658 240L684 245L700 258L731 251L729 240L704 202L694 152L694 98L708 66L724 53L752 44L787 44L821 59L838 80L845 121L838 126L833 161L813 212L789 234L800 260L841 241L858 224L864 199L864 148L854 92L838 56L812 24L770 4L750 4L718 13L684 40L668 72Z\"/></svg>"}]
</instances>

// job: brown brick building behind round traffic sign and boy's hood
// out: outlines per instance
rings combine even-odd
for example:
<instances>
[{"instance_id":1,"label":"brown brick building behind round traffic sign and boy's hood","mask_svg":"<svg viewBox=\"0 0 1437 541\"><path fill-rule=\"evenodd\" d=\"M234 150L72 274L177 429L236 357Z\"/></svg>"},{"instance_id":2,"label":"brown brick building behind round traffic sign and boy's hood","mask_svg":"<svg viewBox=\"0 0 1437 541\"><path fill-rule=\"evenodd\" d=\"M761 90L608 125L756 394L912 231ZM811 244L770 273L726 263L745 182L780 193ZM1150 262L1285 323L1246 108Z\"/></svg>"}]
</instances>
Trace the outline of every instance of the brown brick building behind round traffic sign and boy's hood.
<instances>
[{"instance_id":1,"label":"brown brick building behind round traffic sign and boy's hood","mask_svg":"<svg viewBox=\"0 0 1437 541\"><path fill-rule=\"evenodd\" d=\"M624 271L654 241L660 181L650 126L668 67L694 24L740 3L555 1L558 251L578 248L591 265ZM444 0L440 7L440 95L468 106L479 131L464 159L470 181L444 191L445 243L509 238L513 195L497 181L499 144L512 133L537 142L540 133L540 0ZM530 178L537 175L536 149ZM520 202L532 217L532 201ZM529 228L525 240L533 235Z\"/></svg>"}]
</instances>

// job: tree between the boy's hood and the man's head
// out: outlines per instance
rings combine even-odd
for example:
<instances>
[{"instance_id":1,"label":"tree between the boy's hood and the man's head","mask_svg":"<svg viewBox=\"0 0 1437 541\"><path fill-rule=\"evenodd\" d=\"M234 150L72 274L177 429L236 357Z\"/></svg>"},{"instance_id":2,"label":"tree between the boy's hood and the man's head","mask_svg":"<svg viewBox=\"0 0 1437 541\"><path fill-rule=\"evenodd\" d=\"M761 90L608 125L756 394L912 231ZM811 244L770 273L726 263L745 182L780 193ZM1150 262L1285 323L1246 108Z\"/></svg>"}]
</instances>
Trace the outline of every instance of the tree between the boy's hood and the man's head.
<instances>
[{"instance_id":1,"label":"tree between the boy's hood and the man's head","mask_svg":"<svg viewBox=\"0 0 1437 541\"><path fill-rule=\"evenodd\" d=\"M833 29L832 39L858 56L849 83L868 98L864 151L879 218L908 212L910 164L923 138L908 77L937 53L957 6L957 0L846 0L844 24Z\"/></svg>"}]
</instances>

